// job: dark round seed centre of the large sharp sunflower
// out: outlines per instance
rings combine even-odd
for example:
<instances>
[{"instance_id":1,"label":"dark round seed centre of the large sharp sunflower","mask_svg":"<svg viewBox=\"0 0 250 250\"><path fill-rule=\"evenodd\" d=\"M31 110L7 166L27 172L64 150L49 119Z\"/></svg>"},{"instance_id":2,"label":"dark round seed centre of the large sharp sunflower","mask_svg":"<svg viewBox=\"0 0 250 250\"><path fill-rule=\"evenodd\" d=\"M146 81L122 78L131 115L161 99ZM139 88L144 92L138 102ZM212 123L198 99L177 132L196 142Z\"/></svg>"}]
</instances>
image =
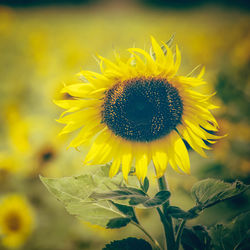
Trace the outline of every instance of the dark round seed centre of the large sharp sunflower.
<instances>
[{"instance_id":1,"label":"dark round seed centre of the large sharp sunflower","mask_svg":"<svg viewBox=\"0 0 250 250\"><path fill-rule=\"evenodd\" d=\"M178 90L167 80L134 78L106 92L102 122L126 140L150 142L175 129L182 113Z\"/></svg>"}]
</instances>

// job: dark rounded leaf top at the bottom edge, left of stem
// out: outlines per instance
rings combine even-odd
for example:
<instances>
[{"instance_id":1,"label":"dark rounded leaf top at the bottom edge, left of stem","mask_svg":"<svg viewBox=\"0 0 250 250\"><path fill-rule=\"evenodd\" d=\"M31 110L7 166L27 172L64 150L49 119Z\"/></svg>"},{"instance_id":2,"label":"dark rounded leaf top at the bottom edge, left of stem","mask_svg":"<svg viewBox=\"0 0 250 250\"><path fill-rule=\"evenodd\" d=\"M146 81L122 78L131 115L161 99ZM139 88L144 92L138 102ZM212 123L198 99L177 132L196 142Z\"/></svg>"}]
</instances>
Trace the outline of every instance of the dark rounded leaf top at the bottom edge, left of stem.
<instances>
[{"instance_id":1,"label":"dark rounded leaf top at the bottom edge, left of stem","mask_svg":"<svg viewBox=\"0 0 250 250\"><path fill-rule=\"evenodd\" d=\"M131 250L131 249L137 249L137 250L152 250L151 245L143 240L143 239L136 239L129 237L124 240L115 240L111 243L107 244L103 250Z\"/></svg>"}]
</instances>

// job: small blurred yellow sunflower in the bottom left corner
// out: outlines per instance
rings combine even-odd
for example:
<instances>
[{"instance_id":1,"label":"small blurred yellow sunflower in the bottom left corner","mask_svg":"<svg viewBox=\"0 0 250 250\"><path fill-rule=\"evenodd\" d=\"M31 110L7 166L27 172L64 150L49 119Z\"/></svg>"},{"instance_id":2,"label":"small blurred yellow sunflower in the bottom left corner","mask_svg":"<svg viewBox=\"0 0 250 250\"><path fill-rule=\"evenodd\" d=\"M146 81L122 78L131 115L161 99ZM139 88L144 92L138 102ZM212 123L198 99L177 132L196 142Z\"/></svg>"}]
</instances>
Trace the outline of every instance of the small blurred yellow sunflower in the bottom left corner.
<instances>
[{"instance_id":1,"label":"small blurred yellow sunflower in the bottom left corner","mask_svg":"<svg viewBox=\"0 0 250 250\"><path fill-rule=\"evenodd\" d=\"M0 201L0 235L2 245L18 248L24 244L34 227L34 215L26 199L17 194Z\"/></svg>"}]
</instances>

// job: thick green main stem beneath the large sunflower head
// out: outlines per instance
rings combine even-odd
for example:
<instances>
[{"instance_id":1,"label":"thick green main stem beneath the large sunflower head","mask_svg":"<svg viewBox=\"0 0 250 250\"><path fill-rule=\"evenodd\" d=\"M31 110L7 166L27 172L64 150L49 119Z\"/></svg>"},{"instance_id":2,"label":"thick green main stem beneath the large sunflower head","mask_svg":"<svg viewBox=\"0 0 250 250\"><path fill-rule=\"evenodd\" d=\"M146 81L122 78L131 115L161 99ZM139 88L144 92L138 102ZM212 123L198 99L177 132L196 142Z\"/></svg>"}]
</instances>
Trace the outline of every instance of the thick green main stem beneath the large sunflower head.
<instances>
[{"instance_id":1,"label":"thick green main stem beneath the large sunflower head","mask_svg":"<svg viewBox=\"0 0 250 250\"><path fill-rule=\"evenodd\" d=\"M160 191L168 190L165 176L162 176L158 179L158 186L159 186ZM174 236L172 218L168 215L168 212L167 212L167 208L169 207L169 205L170 205L169 201L165 202L162 205L163 215L165 217L165 220L161 218L161 221L162 221L163 226L164 226L167 249L173 250L173 249L175 249L175 236ZM158 210L158 213L159 213L159 210Z\"/></svg>"}]
</instances>

